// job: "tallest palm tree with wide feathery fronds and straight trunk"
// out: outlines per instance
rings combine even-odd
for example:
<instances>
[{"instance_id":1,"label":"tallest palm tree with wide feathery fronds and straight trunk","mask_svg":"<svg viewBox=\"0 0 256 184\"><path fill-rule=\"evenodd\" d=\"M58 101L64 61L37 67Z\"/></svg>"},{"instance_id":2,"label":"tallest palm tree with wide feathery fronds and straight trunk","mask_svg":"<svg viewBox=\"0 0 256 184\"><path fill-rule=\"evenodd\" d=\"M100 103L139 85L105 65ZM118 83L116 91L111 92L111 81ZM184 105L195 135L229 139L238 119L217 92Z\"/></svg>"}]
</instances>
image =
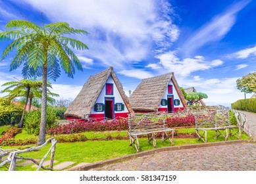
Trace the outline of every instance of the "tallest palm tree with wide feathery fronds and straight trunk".
<instances>
[{"instance_id":1,"label":"tallest palm tree with wide feathery fronds and straight trunk","mask_svg":"<svg viewBox=\"0 0 256 184\"><path fill-rule=\"evenodd\" d=\"M5 49L1 59L16 49L11 70L23 64L23 76L42 76L43 79L38 138L38 145L42 145L45 143L46 133L47 77L56 80L61 75L61 68L71 78L75 73L75 67L82 70L78 57L71 49L84 50L88 47L67 35L88 35L88 32L70 28L65 22L38 26L25 20L11 20L5 27L10 30L0 33L0 41L12 39L13 42Z\"/></svg>"}]
</instances>

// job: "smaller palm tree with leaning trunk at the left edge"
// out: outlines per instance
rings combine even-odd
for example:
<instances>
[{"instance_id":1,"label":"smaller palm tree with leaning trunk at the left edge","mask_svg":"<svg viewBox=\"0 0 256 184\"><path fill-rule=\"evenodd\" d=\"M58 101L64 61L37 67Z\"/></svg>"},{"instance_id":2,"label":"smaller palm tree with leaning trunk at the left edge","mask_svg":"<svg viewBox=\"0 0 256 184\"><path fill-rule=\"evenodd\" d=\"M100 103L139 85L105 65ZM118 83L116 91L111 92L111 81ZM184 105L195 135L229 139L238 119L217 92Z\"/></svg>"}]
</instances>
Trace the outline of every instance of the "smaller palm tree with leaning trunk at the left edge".
<instances>
[{"instance_id":1,"label":"smaller palm tree with leaning trunk at the left edge","mask_svg":"<svg viewBox=\"0 0 256 184\"><path fill-rule=\"evenodd\" d=\"M42 81L32 81L32 80L20 80L20 81L9 81L4 83L2 86L8 86L3 89L1 93L9 93L7 97L9 99L14 99L15 97L26 97L26 102L24 104L22 116L20 122L18 123L18 127L23 127L24 115L26 112L26 106L28 104L28 99L30 95L30 91L36 90L42 86Z\"/></svg>"}]
</instances>

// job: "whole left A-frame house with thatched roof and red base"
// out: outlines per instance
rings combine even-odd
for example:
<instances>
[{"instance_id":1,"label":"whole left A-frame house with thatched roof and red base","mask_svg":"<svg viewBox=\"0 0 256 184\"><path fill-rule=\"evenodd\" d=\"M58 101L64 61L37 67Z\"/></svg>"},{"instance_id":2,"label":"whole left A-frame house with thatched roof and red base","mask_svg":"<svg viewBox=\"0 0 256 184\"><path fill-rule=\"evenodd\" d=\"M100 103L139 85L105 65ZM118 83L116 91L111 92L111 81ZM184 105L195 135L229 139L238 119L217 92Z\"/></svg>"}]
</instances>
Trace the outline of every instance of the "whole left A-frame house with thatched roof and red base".
<instances>
[{"instance_id":1,"label":"whole left A-frame house with thatched roof and red base","mask_svg":"<svg viewBox=\"0 0 256 184\"><path fill-rule=\"evenodd\" d=\"M134 112L113 67L90 76L82 90L68 106L67 119L118 118Z\"/></svg>"}]
</instances>

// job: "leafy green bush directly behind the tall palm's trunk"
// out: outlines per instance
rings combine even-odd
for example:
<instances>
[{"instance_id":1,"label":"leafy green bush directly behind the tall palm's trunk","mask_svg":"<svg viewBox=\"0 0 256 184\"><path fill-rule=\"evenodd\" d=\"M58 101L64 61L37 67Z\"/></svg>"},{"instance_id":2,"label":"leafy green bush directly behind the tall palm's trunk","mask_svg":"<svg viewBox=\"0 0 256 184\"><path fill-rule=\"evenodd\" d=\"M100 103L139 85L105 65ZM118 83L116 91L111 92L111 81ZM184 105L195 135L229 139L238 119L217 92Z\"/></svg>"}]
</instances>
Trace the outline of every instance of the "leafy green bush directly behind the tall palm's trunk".
<instances>
[{"instance_id":1,"label":"leafy green bush directly behind the tall palm's trunk","mask_svg":"<svg viewBox=\"0 0 256 184\"><path fill-rule=\"evenodd\" d=\"M57 116L57 110L51 106L47 106L46 112L46 129L55 126L55 120L59 119ZM41 123L41 109L33 110L30 113L27 113L24 118L24 129L28 134L39 135Z\"/></svg>"}]
</instances>

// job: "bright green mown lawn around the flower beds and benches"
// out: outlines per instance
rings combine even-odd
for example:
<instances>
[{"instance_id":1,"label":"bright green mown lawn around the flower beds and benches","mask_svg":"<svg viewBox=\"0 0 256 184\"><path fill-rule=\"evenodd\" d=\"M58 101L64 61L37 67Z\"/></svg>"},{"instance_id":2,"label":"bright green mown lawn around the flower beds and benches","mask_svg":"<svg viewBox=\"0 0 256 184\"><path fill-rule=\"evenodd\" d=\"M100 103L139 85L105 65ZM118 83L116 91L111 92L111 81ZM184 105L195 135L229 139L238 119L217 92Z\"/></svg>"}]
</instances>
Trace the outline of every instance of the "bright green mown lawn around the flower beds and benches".
<instances>
[{"instance_id":1,"label":"bright green mown lawn around the flower beds and benches","mask_svg":"<svg viewBox=\"0 0 256 184\"><path fill-rule=\"evenodd\" d=\"M0 130L4 129L0 127ZM194 128L187 129L177 129L178 133L195 133ZM81 133L80 133L81 134ZM92 138L102 138L105 135L111 135L115 137L116 135L127 136L127 131L111 131L111 132L85 132L82 133L88 137L88 139ZM207 142L216 142L216 141L224 141L224 137L218 137L218 139L214 139L215 131L207 131ZM34 135L28 135L26 131L22 131L16 135L15 139L24 139L27 137L34 137ZM237 140L237 136L229 137L228 140ZM248 139L247 135L242 134L242 139ZM154 149L152 143L148 143L146 138L140 138L140 147L141 151ZM199 141L198 139L178 139L174 138L174 146L180 145L189 145L189 144L197 144L203 143L203 141ZM84 142L76 142L76 143L57 143L56 152L55 152L55 160L58 160L58 163L65 161L72 161L79 164L80 162L98 162L101 160L107 160L110 158L116 158L120 156L125 156L128 154L136 153L136 149L134 147L129 147L129 140L113 140L113 141L84 141ZM26 145L22 147L2 147L3 149L25 149L28 147L35 147L36 145ZM164 143L160 142L160 139L157 139L157 147L169 147L170 141L166 140ZM20 156L30 157L35 159L43 158L44 154L51 147L51 144L48 144L46 147L39 151L28 152L24 154L20 154ZM47 158L49 160L49 156ZM7 170L7 168L0 168L0 171ZM30 166L17 166L16 170L36 170L36 168L32 168Z\"/></svg>"}]
</instances>

